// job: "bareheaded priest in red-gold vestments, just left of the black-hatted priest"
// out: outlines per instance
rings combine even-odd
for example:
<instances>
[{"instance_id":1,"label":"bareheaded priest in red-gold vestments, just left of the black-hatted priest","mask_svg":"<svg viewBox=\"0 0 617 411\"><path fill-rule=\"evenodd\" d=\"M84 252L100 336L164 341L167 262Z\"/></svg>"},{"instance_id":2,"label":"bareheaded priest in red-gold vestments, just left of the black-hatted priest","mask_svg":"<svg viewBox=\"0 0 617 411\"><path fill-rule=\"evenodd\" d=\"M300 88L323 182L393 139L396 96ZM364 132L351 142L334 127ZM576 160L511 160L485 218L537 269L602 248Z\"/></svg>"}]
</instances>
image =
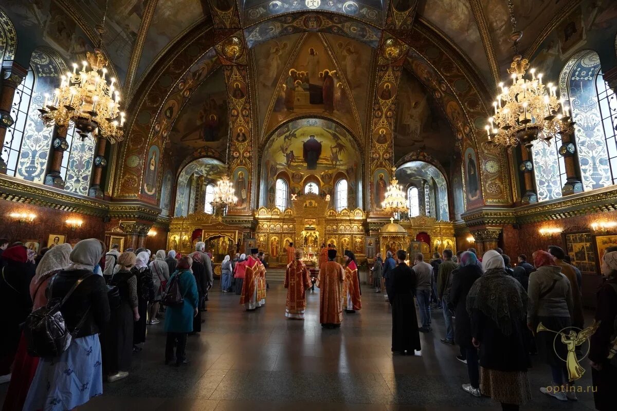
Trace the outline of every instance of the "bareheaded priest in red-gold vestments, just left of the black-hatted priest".
<instances>
[{"instance_id":1,"label":"bareheaded priest in red-gold vestments, just left of the black-hatted priest","mask_svg":"<svg viewBox=\"0 0 617 411\"><path fill-rule=\"evenodd\" d=\"M294 261L287 265L284 283L287 288L285 317L296 320L304 320L304 311L307 307L305 292L312 285L309 268L302 262L301 257L302 251L296 250Z\"/></svg>"}]
</instances>

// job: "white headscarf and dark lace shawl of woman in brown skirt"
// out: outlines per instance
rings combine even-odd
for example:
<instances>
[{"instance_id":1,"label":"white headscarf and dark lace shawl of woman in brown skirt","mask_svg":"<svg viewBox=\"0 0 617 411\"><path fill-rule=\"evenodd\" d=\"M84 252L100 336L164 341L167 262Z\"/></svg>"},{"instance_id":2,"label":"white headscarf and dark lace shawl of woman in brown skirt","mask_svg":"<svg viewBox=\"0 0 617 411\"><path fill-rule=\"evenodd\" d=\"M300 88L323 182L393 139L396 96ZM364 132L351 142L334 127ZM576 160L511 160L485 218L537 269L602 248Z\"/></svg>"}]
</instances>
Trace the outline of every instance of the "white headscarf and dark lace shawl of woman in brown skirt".
<instances>
[{"instance_id":1,"label":"white headscarf and dark lace shawl of woman in brown skirt","mask_svg":"<svg viewBox=\"0 0 617 411\"><path fill-rule=\"evenodd\" d=\"M467 295L467 312L477 309L492 319L503 335L511 335L512 324L527 317L528 296L523 286L505 272L502 256L487 251L482 263L486 272L476 280Z\"/></svg>"}]
</instances>

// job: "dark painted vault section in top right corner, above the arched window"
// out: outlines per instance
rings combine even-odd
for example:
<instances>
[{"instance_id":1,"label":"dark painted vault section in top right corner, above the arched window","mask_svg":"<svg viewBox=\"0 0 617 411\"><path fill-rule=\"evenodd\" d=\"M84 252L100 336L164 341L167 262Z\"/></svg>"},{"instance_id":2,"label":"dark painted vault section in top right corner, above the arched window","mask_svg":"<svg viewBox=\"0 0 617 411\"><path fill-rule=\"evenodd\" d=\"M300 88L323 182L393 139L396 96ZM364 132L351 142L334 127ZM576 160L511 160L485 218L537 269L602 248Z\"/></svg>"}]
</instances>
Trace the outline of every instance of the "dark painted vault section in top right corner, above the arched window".
<instances>
[{"instance_id":1,"label":"dark painted vault section in top right corner, above the arched window","mask_svg":"<svg viewBox=\"0 0 617 411\"><path fill-rule=\"evenodd\" d=\"M617 63L615 41L607 41L607 33L617 31L617 2L584 0L542 41L529 67L544 73L544 78L557 81L561 68L578 51L591 49L598 53L606 67ZM563 84L560 84L563 93Z\"/></svg>"}]
</instances>

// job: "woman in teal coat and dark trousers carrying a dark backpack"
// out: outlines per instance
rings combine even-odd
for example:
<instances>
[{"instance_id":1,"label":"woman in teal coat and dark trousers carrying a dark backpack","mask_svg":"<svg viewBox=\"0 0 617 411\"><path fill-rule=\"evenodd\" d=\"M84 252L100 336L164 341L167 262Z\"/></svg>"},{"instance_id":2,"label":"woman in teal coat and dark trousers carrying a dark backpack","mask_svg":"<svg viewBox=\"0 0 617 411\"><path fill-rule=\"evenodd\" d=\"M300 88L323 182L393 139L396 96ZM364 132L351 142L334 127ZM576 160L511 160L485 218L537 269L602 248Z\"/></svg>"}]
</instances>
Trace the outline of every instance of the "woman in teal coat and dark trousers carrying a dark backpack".
<instances>
[{"instance_id":1,"label":"woman in teal coat and dark trousers carrying a dark backpack","mask_svg":"<svg viewBox=\"0 0 617 411\"><path fill-rule=\"evenodd\" d=\"M180 293L184 296L184 301L178 306L167 307L165 311L165 332L167 332L167 343L165 344L165 364L173 361L173 347L176 347L176 365L186 364L186 336L193 332L193 317L197 315L199 304L199 294L197 293L197 282L191 273L193 260L190 257L183 257L178 261L178 269L172 274L170 283L178 277Z\"/></svg>"}]
</instances>

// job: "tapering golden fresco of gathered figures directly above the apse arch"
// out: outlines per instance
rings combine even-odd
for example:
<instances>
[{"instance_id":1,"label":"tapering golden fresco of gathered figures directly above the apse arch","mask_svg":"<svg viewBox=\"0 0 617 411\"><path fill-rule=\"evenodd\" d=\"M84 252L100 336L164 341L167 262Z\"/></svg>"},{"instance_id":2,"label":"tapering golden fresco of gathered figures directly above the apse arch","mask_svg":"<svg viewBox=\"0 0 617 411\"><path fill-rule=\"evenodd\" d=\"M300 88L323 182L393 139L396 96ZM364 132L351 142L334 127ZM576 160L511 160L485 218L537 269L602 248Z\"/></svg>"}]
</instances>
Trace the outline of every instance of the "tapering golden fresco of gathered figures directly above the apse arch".
<instances>
[{"instance_id":1,"label":"tapering golden fresco of gathered figures directly above the apse arch","mask_svg":"<svg viewBox=\"0 0 617 411\"><path fill-rule=\"evenodd\" d=\"M309 34L305 37L272 91L272 112L268 113L264 131L273 129L293 115L304 113L333 115L358 129L360 121L356 121L357 112L354 113L355 105L344 71L331 55L332 49L321 36Z\"/></svg>"}]
</instances>

